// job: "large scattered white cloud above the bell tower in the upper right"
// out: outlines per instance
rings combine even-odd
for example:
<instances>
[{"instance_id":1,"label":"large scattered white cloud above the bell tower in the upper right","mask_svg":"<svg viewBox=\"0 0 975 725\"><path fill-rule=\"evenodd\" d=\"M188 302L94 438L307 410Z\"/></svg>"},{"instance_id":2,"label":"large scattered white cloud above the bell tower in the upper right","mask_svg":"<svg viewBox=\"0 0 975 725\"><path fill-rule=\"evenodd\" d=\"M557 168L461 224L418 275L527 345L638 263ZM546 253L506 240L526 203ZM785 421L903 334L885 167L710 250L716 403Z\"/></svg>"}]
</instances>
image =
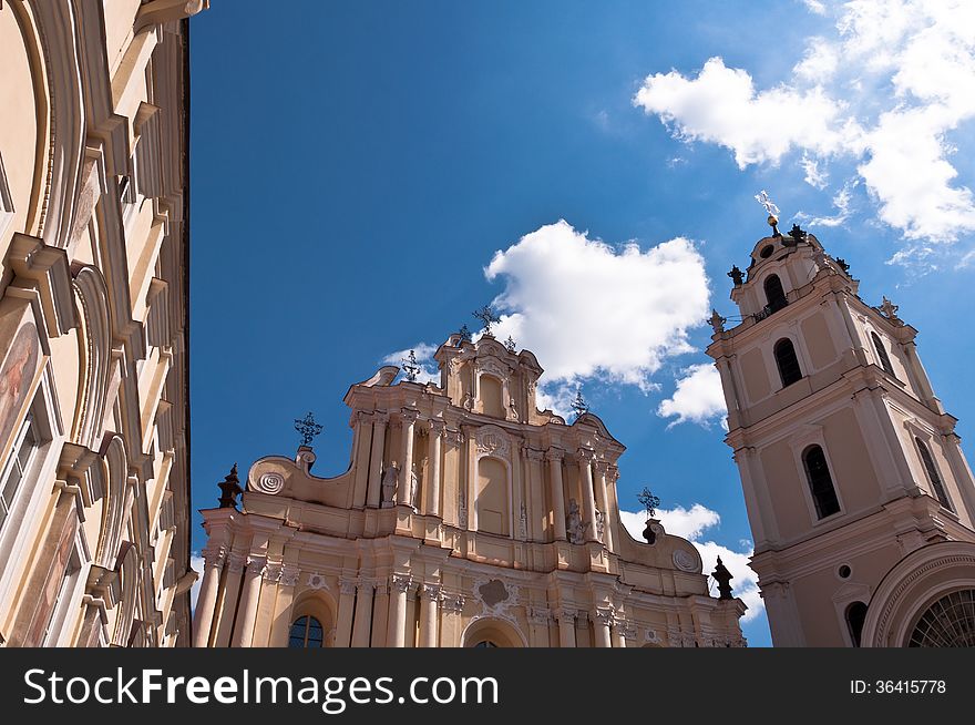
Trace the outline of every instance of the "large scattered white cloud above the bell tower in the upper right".
<instances>
[{"instance_id":1,"label":"large scattered white cloud above the bell tower in the upper right","mask_svg":"<svg viewBox=\"0 0 975 725\"><path fill-rule=\"evenodd\" d=\"M697 78L647 76L634 103L679 140L728 147L742 169L801 151L798 163L818 188L825 164L852 159L878 217L906 241L899 259L975 232L972 180L953 163L956 152L975 151L972 134L957 133L975 119L975 3L805 4L835 16L835 27L807 39L780 84L756 89L748 71L711 58Z\"/></svg>"}]
</instances>

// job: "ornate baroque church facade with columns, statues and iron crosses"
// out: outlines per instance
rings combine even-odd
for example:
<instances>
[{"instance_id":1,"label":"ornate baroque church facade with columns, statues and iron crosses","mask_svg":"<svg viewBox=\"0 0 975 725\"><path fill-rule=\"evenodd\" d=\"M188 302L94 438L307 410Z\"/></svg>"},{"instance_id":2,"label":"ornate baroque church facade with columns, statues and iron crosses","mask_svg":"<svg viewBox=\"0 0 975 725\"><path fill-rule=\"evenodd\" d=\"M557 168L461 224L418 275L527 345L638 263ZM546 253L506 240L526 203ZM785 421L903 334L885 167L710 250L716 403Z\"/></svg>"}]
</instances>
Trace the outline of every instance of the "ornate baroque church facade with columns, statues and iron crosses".
<instances>
[{"instance_id":1,"label":"ornate baroque church facade with columns, statues and iron crosses","mask_svg":"<svg viewBox=\"0 0 975 725\"><path fill-rule=\"evenodd\" d=\"M384 367L349 389L343 473L312 474L306 446L254 463L243 510L223 484L196 646L745 644L691 543L620 524L603 422L536 410L531 353L454 335L435 359L440 385Z\"/></svg>"}]
</instances>

